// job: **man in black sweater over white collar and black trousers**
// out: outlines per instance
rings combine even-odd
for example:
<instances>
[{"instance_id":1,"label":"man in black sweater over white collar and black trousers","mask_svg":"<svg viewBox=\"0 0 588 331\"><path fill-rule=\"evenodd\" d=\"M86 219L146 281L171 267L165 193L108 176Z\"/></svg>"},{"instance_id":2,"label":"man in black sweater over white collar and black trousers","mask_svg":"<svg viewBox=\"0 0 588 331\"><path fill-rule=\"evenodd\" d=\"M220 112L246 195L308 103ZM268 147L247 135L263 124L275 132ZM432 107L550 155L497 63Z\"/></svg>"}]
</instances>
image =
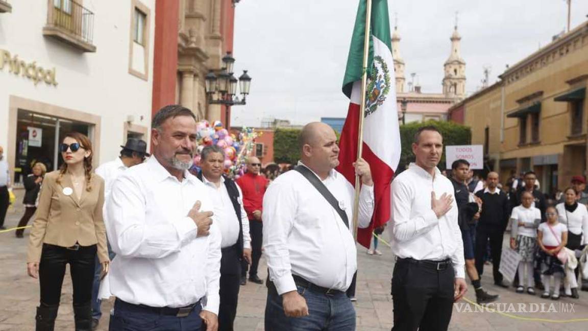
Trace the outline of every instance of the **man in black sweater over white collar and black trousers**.
<instances>
[{"instance_id":1,"label":"man in black sweater over white collar and black trousers","mask_svg":"<svg viewBox=\"0 0 588 331\"><path fill-rule=\"evenodd\" d=\"M476 269L480 278L484 272L484 256L486 247L490 241L490 256L492 256L492 271L494 284L500 287L508 287L503 283L500 268L500 255L502 254L502 238L509 222L509 201L506 193L498 188L498 174L491 172L486 176L486 188L476 193L482 199L482 213L474 216L478 219L476 232L475 260Z\"/></svg>"}]
</instances>

